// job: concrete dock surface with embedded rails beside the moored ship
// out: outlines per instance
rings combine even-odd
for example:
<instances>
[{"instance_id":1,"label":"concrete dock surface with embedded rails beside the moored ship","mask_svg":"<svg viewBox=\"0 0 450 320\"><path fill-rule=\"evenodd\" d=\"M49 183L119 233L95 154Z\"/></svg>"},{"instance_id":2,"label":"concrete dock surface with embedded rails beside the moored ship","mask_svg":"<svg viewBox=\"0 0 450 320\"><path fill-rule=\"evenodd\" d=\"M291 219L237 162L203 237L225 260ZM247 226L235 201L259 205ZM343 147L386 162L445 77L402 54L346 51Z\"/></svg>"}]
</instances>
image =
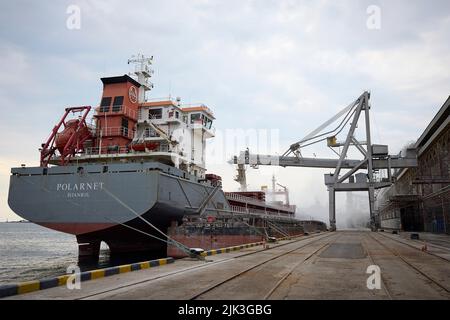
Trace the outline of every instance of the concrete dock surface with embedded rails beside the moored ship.
<instances>
[{"instance_id":1,"label":"concrete dock surface with embedded rails beside the moored ship","mask_svg":"<svg viewBox=\"0 0 450 320\"><path fill-rule=\"evenodd\" d=\"M388 232L317 233L7 299L449 299L443 243Z\"/></svg>"}]
</instances>

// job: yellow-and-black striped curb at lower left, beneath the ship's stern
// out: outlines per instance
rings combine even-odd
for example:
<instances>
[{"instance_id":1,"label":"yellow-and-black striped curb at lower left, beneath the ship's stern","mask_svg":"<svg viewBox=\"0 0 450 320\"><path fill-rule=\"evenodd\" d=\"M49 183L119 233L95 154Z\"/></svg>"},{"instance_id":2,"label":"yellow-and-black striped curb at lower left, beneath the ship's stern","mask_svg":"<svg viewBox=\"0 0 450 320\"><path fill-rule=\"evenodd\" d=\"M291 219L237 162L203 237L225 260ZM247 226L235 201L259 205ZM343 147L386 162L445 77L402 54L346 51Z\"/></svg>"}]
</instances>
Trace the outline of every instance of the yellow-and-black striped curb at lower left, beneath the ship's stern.
<instances>
[{"instance_id":1,"label":"yellow-and-black striped curb at lower left, beneath the ship's stern","mask_svg":"<svg viewBox=\"0 0 450 320\"><path fill-rule=\"evenodd\" d=\"M145 262L138 262L133 264L126 264L122 266L110 267L105 269L97 269L91 271L84 271L80 273L81 281L94 280L112 275L137 271L141 269L148 269L152 267L162 266L168 263L173 263L175 260L171 257L157 260L150 260ZM58 286L63 286L67 283L67 279L73 274L66 274L56 278L49 278L43 280L34 280L27 282L20 282L17 284L0 286L0 298L13 296L22 293L28 293Z\"/></svg>"}]
</instances>

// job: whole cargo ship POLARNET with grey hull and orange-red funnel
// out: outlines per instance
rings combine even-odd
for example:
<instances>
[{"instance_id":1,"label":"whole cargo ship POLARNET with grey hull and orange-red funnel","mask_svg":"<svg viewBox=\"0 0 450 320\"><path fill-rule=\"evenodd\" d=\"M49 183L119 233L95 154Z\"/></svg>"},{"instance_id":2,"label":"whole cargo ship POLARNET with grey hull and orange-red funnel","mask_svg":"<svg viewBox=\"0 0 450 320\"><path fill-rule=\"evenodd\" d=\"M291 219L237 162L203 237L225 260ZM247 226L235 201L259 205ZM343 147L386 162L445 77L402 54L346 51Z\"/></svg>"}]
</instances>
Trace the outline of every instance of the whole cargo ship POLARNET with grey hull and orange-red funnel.
<instances>
[{"instance_id":1,"label":"whole cargo ship POLARNET with grey hull and orange-red funnel","mask_svg":"<svg viewBox=\"0 0 450 320\"><path fill-rule=\"evenodd\" d=\"M99 106L66 108L39 149L40 165L11 169L16 214L75 235L79 257L92 259L102 241L111 254L185 256L326 228L297 220L295 206L268 202L264 191L224 192L205 168L213 112L148 99L152 59L134 56L132 72L101 78Z\"/></svg>"}]
</instances>

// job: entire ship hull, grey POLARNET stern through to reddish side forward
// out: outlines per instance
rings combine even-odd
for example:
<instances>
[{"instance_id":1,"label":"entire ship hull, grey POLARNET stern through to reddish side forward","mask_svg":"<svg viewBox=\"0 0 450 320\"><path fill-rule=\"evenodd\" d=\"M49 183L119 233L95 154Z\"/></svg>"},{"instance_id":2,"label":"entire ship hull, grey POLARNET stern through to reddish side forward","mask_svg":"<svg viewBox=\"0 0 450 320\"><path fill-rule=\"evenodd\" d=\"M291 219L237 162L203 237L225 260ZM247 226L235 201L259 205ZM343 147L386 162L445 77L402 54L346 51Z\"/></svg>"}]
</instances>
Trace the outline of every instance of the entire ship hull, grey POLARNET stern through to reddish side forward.
<instances>
[{"instance_id":1,"label":"entire ship hull, grey POLARNET stern through to reddish side forward","mask_svg":"<svg viewBox=\"0 0 450 320\"><path fill-rule=\"evenodd\" d=\"M166 235L189 248L210 250L261 241L264 235L283 237L285 232L300 235L317 229L290 216L280 222L276 220L280 213L249 216L248 203L235 199L232 207L220 188L158 162L13 168L11 173L11 209L26 220L75 235L80 258L97 259L101 242L112 255L182 257L186 253L168 246ZM200 212L204 217L233 210L247 214L245 219L256 228L240 222L238 229L225 227L211 233L204 228L191 230L183 221L198 219ZM235 223L234 218L228 217L227 223ZM283 233L267 228L267 220L281 223Z\"/></svg>"}]
</instances>

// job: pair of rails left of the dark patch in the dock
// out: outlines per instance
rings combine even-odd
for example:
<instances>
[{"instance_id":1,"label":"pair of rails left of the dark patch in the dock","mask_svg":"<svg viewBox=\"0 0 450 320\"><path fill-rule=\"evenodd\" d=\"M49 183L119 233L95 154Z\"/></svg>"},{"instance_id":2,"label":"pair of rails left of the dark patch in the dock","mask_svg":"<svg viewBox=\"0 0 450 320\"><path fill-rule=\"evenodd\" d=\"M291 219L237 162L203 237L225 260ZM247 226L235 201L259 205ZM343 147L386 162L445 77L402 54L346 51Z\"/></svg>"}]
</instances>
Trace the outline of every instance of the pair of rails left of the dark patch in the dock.
<instances>
[{"instance_id":1,"label":"pair of rails left of the dark patch in the dock","mask_svg":"<svg viewBox=\"0 0 450 320\"><path fill-rule=\"evenodd\" d=\"M333 237L333 236L334 236L334 237ZM294 249L292 249L292 250L283 252L283 253L278 254L278 255L276 255L276 256L274 256L274 257L271 257L271 258L269 258L269 259L266 259L266 260L264 260L264 261L261 261L261 262L259 262L259 263L257 263L257 264L254 264L254 265L252 265L252 266L250 266L250 267L248 267L248 268L246 268L246 269L240 271L240 272L237 273L237 274L234 274L234 275L231 276L231 277L228 277L227 279L224 279L224 280L222 280L222 281L220 281L220 282L218 282L218 283L216 283L216 284L214 284L214 285L212 285L212 286L210 286L210 287L208 287L208 288L202 290L201 292L199 292L199 293L195 294L194 296L190 297L189 300L195 300L195 299L198 299L198 298L200 298L201 296L205 295L206 293L211 292L211 291L213 291L213 290L216 290L216 289L220 288L221 286L223 286L224 284L226 284L226 283L228 283L228 282L230 282L230 281L232 281L232 280L238 279L239 277L242 277L243 275L247 274L248 272L250 272L250 271L252 271L252 270L254 270L254 269L256 269L256 268L258 268L258 267L260 267L260 266L269 264L270 262L274 262L275 260L280 259L280 258L282 258L282 257L285 257L285 256L287 256L287 255L289 255L289 254L293 254L294 252L296 252L296 251L298 251L298 250L301 250L301 249L303 249L303 248L305 248L305 247L311 245L312 243L318 242L318 241L323 240L323 239L328 239L328 238L330 238L330 237L333 237L333 238L334 238L333 241L334 241L334 240L336 240L339 236L336 236L336 234L329 234L329 235L327 235L327 236L320 237L319 239L315 239L315 240L313 240L313 241L310 241L310 242L308 242L308 243L305 243L304 245L302 245L302 246L300 246L300 247L294 248ZM296 263L296 264L295 264L295 265L294 265L294 266L293 266L293 267L292 267L292 268L291 268L291 269L290 269L290 270L289 270L289 271L288 271L288 272L287 272L287 273L286 273L286 274L285 274L285 275L284 275L284 276L283 276L283 277L275 284L275 286L273 286L273 287L269 290L269 292L264 296L264 300L268 299L268 298L276 291L276 289L281 285L281 283L283 283L283 282L284 282L284 281L292 274L292 272L293 272L296 268L298 268L301 264L303 264L303 263L305 263L306 261L308 261L311 257L313 257L313 256L316 255L318 252L320 252L323 248L325 248L326 246L328 246L331 242L332 242L332 241L329 241L329 242L326 242L326 243L323 244L323 245L320 245L318 249L314 250L312 253L308 254L304 259L302 259L301 261L299 261L298 263Z\"/></svg>"}]
</instances>

